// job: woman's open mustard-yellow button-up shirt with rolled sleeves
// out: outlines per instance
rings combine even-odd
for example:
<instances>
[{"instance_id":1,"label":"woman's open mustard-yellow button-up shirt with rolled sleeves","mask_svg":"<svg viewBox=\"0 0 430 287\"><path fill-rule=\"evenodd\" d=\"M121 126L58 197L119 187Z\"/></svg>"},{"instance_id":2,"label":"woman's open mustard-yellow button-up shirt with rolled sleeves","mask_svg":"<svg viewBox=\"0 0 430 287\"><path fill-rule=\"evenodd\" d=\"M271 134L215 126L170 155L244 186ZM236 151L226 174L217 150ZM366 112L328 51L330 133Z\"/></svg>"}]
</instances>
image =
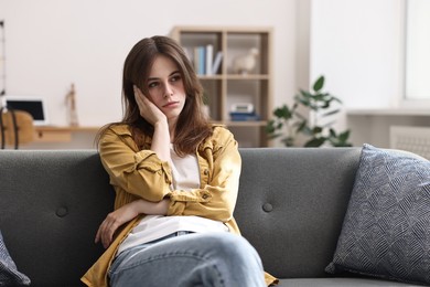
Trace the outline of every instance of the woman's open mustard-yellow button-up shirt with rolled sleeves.
<instances>
[{"instance_id":1,"label":"woman's open mustard-yellow button-up shirt with rolled sleeves","mask_svg":"<svg viewBox=\"0 0 430 287\"><path fill-rule=\"evenodd\" d=\"M161 161L150 147L151 138L147 137L143 149L139 150L127 125L111 126L101 136L99 153L116 192L115 209L137 199L158 202L168 196L168 215L197 215L221 221L232 233L240 234L233 212L239 188L241 159L230 131L214 126L213 136L198 146L196 157L201 185L191 191L170 189L170 164ZM80 278L83 283L95 287L108 286L107 272L119 244L142 216L125 224L110 246ZM268 285L276 281L269 274L265 276Z\"/></svg>"}]
</instances>

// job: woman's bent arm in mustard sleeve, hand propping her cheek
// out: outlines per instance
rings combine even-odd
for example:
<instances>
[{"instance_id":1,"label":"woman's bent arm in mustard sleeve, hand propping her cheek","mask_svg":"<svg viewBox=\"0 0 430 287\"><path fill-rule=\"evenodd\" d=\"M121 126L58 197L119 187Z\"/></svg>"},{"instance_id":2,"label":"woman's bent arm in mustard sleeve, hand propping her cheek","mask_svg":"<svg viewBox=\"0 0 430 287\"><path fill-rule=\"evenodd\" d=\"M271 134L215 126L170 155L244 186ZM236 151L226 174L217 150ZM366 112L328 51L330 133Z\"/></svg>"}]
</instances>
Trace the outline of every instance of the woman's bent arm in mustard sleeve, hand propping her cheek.
<instances>
[{"instance_id":1,"label":"woman's bent arm in mustard sleeve, hand propping her cheek","mask_svg":"<svg viewBox=\"0 0 430 287\"><path fill-rule=\"evenodd\" d=\"M105 130L99 153L111 184L144 200L161 201L170 191L170 131L165 115L133 86L140 115L153 125L151 146L139 150L126 126Z\"/></svg>"}]
</instances>

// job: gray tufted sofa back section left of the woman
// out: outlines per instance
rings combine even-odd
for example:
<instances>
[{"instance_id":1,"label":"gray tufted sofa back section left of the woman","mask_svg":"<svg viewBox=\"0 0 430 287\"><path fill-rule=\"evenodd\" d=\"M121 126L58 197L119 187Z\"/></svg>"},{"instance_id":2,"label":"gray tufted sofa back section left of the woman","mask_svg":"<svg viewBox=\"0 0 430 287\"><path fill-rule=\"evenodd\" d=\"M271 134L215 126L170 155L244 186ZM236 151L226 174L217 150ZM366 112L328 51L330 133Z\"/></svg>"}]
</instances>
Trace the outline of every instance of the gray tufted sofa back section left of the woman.
<instances>
[{"instance_id":1,"label":"gray tufted sofa back section left of the woman","mask_svg":"<svg viewBox=\"0 0 430 287\"><path fill-rule=\"evenodd\" d=\"M96 151L0 151L0 230L31 286L82 286L114 196Z\"/></svg>"}]
</instances>

